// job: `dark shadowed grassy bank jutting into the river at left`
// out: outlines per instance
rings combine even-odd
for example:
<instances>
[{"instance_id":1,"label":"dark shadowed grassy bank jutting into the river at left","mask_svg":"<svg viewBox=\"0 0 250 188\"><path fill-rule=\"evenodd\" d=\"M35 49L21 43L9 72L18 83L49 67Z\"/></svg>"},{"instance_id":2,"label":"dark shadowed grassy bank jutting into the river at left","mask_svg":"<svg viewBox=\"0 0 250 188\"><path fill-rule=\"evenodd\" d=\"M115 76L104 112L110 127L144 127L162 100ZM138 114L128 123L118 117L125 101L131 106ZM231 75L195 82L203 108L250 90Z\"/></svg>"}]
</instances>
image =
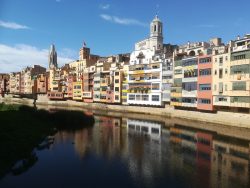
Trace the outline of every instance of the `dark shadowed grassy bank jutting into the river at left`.
<instances>
[{"instance_id":1,"label":"dark shadowed grassy bank jutting into the river at left","mask_svg":"<svg viewBox=\"0 0 250 188\"><path fill-rule=\"evenodd\" d=\"M80 111L48 112L22 105L0 104L0 179L13 172L17 161L20 170L37 160L34 149L58 130L77 130L92 126L94 118Z\"/></svg>"}]
</instances>

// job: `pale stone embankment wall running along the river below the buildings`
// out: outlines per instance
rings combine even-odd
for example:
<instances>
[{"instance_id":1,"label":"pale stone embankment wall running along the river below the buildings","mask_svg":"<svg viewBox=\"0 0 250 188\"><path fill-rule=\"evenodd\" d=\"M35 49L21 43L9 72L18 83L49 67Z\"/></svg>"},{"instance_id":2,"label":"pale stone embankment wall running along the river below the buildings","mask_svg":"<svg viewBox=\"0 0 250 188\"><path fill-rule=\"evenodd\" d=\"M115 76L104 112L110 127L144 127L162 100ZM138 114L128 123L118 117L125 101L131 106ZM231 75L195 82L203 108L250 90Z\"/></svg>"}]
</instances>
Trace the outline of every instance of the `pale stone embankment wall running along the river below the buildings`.
<instances>
[{"instance_id":1,"label":"pale stone embankment wall running along the river below the buildings","mask_svg":"<svg viewBox=\"0 0 250 188\"><path fill-rule=\"evenodd\" d=\"M33 104L32 99L21 99L5 97L0 98L0 102L6 103L20 103L20 104ZM77 101L48 101L38 98L36 105L45 106L60 106L60 107L81 107L91 110L113 111L121 113L137 113L144 115L156 115L166 118L180 118L192 121L199 121L204 123L221 124L225 126L250 128L250 114L241 114L234 112L221 112L217 113L204 113L197 111L177 110L171 106L165 108L156 107L140 107L140 106L124 106L124 105L110 105L102 103L84 103Z\"/></svg>"}]
</instances>

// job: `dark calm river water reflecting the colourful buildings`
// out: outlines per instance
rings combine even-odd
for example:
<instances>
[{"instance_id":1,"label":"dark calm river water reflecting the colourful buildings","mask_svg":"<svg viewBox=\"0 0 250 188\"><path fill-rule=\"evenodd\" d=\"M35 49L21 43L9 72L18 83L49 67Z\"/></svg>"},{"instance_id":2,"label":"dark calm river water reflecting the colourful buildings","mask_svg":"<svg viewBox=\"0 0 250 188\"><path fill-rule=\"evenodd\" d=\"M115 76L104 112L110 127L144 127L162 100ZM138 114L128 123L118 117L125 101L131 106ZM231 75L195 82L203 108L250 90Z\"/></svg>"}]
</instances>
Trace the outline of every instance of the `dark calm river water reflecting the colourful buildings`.
<instances>
[{"instance_id":1,"label":"dark calm river water reflecting the colourful buildings","mask_svg":"<svg viewBox=\"0 0 250 188\"><path fill-rule=\"evenodd\" d=\"M32 167L7 174L0 187L250 187L249 130L148 115L94 117L91 128L57 132L47 149L34 150Z\"/></svg>"}]
</instances>

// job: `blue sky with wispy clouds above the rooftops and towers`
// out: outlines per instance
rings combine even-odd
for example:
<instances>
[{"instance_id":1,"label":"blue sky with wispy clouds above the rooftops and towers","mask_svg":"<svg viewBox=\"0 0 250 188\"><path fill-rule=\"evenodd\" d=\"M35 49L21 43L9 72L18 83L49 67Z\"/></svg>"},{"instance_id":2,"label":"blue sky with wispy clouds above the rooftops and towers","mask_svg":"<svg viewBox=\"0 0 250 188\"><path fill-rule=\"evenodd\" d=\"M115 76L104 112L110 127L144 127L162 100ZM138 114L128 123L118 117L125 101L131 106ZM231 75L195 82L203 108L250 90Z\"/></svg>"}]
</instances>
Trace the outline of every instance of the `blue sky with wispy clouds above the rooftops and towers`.
<instances>
[{"instance_id":1,"label":"blue sky with wispy clouds above the rooftops and towers","mask_svg":"<svg viewBox=\"0 0 250 188\"><path fill-rule=\"evenodd\" d=\"M156 12L165 43L228 42L250 33L249 7L249 0L0 0L0 72L47 65L51 43L61 65L78 58L83 41L102 56L131 52Z\"/></svg>"}]
</instances>

